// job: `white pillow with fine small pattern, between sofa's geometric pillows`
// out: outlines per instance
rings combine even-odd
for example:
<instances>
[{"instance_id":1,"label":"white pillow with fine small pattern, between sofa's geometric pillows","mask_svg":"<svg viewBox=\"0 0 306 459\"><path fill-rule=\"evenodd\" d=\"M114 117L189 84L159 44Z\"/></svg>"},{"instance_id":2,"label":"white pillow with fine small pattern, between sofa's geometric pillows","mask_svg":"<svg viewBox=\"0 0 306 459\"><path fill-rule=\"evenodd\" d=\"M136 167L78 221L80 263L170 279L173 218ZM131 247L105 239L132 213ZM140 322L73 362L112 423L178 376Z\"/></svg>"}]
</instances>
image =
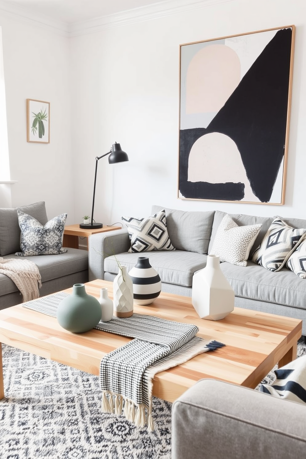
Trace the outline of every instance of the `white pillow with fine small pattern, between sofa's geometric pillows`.
<instances>
[{"instance_id":1,"label":"white pillow with fine small pattern, between sofa's geometric pillows","mask_svg":"<svg viewBox=\"0 0 306 459\"><path fill-rule=\"evenodd\" d=\"M250 249L261 229L261 223L255 225L238 226L226 214L215 236L210 255L219 255L220 261L246 266Z\"/></svg>"}]
</instances>

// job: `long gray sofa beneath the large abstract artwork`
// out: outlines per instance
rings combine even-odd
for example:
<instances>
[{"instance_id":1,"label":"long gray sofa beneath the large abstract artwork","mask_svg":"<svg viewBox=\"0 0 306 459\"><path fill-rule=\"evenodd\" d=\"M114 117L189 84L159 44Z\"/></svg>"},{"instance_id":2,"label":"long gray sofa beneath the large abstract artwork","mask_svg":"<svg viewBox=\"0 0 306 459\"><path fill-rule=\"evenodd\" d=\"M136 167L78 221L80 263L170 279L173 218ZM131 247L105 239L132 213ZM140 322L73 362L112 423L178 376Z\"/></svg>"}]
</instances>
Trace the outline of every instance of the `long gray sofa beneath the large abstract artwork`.
<instances>
[{"instance_id":1,"label":"long gray sofa beneath the large abstract artwork","mask_svg":"<svg viewBox=\"0 0 306 459\"><path fill-rule=\"evenodd\" d=\"M151 215L164 207L153 206ZM175 251L143 252L161 277L162 291L191 297L192 276L206 265L217 228L225 213L221 211L184 212L165 209L167 229ZM235 291L235 306L274 313L303 320L302 334L306 336L306 280L289 269L272 272L251 261L273 221L273 216L256 217L230 214L236 224L261 223L261 230L250 252L248 265L221 263L221 269ZM283 218L295 228L306 228L306 220ZM132 269L138 253L128 253L130 239L127 229L99 233L89 237L89 280L113 280L118 272L116 254L120 263Z\"/></svg>"}]
</instances>

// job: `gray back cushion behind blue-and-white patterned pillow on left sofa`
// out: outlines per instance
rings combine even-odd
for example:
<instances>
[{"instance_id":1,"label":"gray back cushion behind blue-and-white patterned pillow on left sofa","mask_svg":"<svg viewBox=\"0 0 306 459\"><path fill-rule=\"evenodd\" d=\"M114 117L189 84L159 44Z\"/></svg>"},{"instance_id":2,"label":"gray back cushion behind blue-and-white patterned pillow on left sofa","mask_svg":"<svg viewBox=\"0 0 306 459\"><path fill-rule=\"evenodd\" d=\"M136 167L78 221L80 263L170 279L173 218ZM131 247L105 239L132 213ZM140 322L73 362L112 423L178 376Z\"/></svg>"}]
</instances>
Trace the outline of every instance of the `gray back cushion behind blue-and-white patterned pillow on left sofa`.
<instances>
[{"instance_id":1,"label":"gray back cushion behind blue-and-white patterned pillow on left sofa","mask_svg":"<svg viewBox=\"0 0 306 459\"><path fill-rule=\"evenodd\" d=\"M16 207L15 209L0 208L0 255L2 257L20 250L20 228L17 209L36 218L42 225L48 221L44 201Z\"/></svg>"}]
</instances>

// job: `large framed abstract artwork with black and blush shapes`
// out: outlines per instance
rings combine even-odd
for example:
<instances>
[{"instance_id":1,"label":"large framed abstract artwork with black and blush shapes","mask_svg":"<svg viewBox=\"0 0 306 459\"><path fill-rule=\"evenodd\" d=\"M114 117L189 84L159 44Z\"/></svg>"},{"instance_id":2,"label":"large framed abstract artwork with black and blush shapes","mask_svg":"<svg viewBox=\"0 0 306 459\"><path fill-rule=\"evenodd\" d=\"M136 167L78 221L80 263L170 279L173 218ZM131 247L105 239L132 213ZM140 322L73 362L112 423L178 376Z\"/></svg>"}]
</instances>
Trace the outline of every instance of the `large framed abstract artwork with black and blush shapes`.
<instances>
[{"instance_id":1,"label":"large framed abstract artwork with black and blush shapes","mask_svg":"<svg viewBox=\"0 0 306 459\"><path fill-rule=\"evenodd\" d=\"M179 198L284 204L294 32L180 45Z\"/></svg>"}]
</instances>

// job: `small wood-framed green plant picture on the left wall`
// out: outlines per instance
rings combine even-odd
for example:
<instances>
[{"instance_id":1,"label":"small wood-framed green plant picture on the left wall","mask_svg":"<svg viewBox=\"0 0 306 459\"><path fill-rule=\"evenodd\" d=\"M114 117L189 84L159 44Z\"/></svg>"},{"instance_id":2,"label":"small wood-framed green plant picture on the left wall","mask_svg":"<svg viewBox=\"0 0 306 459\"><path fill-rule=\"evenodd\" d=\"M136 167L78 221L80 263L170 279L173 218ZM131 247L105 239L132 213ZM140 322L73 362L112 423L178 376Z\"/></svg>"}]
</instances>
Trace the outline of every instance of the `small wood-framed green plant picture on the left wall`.
<instances>
[{"instance_id":1,"label":"small wood-framed green plant picture on the left wall","mask_svg":"<svg viewBox=\"0 0 306 459\"><path fill-rule=\"evenodd\" d=\"M50 102L27 99L27 142L50 143Z\"/></svg>"}]
</instances>

